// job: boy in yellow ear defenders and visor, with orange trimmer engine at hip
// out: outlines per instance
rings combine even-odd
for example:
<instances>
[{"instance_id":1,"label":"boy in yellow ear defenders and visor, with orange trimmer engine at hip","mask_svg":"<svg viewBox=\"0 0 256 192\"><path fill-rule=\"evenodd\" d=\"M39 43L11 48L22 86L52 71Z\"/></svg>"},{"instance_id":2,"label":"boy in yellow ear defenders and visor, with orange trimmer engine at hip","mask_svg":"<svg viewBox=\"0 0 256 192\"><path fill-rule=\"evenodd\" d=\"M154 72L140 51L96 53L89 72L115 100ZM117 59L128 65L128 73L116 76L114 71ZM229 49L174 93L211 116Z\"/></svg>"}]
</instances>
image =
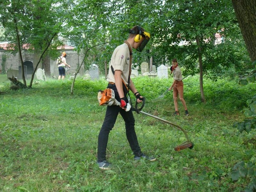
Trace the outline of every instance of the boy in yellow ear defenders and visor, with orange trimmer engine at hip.
<instances>
[{"instance_id":1,"label":"boy in yellow ear defenders and visor, with orange trimmer engine at hip","mask_svg":"<svg viewBox=\"0 0 256 192\"><path fill-rule=\"evenodd\" d=\"M111 102L108 100L107 102L103 101L100 103L100 105L107 105L105 119L101 126L98 137L97 164L102 170L108 170L111 167L111 164L106 160L108 135L114 127L117 115L119 113L124 119L126 138L133 151L134 160L140 160L141 158L148 159L149 161L156 160L155 157L148 157L141 152L137 135L134 129L135 120L132 114L132 110L128 110L129 89L136 96L138 103L142 102L143 98L142 96L140 96L140 93L137 91L132 82L132 79L130 78L132 64L132 48L141 52L148 43L150 39L150 34L138 25L134 26L129 31L129 33L130 34L128 36L128 39L124 41L123 44L116 47L109 62L107 88L110 90L105 89L103 92L100 91L98 94L99 101L103 98L111 100ZM117 102L120 102L120 106L116 105ZM109 103L113 103L113 105L110 105Z\"/></svg>"}]
</instances>

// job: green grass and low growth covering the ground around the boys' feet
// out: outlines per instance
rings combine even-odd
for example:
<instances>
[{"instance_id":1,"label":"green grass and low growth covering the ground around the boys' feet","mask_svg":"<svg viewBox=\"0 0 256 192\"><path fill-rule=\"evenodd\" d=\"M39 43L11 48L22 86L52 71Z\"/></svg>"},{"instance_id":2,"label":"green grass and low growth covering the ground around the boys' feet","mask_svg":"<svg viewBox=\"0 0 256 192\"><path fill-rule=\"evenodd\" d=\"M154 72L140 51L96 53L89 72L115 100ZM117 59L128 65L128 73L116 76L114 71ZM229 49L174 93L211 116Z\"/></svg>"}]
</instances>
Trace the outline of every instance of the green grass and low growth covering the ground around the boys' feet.
<instances>
[{"instance_id":1,"label":"green grass and low growth covering the ground around the boys' feet","mask_svg":"<svg viewBox=\"0 0 256 192\"><path fill-rule=\"evenodd\" d=\"M0 75L0 78L3 78ZM168 124L136 114L135 129L142 151L157 161L135 162L118 116L107 148L110 171L97 167L97 140L105 107L97 91L105 80L49 80L31 89L0 91L0 191L241 191L249 180L232 182L232 167L255 156L255 130L240 134L232 124L244 118L241 110L256 91L255 84L204 80L206 104L200 102L199 78L184 80L190 116L174 111L172 94L157 99L172 79L133 79L147 98L144 112L179 124L188 131L193 149L174 147L184 134ZM134 96L131 94L132 100Z\"/></svg>"}]
</instances>

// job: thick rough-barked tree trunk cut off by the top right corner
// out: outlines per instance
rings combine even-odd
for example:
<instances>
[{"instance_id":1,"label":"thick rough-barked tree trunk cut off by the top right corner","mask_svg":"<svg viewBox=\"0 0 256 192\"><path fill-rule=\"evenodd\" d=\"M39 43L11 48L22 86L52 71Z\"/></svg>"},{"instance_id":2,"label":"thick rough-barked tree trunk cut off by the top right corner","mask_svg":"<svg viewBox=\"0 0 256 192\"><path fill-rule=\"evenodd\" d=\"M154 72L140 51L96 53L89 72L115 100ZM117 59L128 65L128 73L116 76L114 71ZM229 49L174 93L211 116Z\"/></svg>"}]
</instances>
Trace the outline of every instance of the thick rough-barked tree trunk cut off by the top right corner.
<instances>
[{"instance_id":1,"label":"thick rough-barked tree trunk cut off by the top right corner","mask_svg":"<svg viewBox=\"0 0 256 192\"><path fill-rule=\"evenodd\" d=\"M256 1L232 0L236 19L241 29L250 58L256 60Z\"/></svg>"}]
</instances>

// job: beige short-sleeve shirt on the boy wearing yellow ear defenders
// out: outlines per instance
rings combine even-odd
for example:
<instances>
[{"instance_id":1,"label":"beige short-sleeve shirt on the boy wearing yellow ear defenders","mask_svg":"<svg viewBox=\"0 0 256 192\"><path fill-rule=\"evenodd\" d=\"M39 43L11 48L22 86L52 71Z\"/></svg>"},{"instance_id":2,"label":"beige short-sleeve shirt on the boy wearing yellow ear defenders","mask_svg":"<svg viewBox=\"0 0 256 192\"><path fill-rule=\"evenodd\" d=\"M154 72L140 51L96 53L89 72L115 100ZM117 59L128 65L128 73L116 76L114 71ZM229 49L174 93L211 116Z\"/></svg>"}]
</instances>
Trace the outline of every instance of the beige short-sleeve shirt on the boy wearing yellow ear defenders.
<instances>
[{"instance_id":1,"label":"beige short-sleeve shirt on the boy wearing yellow ear defenders","mask_svg":"<svg viewBox=\"0 0 256 192\"><path fill-rule=\"evenodd\" d=\"M107 81L115 83L115 76L112 73L111 66L113 66L114 71L122 71L121 78L124 80L125 84L128 84L128 77L130 71L130 52L126 43L116 47L109 61Z\"/></svg>"}]
</instances>

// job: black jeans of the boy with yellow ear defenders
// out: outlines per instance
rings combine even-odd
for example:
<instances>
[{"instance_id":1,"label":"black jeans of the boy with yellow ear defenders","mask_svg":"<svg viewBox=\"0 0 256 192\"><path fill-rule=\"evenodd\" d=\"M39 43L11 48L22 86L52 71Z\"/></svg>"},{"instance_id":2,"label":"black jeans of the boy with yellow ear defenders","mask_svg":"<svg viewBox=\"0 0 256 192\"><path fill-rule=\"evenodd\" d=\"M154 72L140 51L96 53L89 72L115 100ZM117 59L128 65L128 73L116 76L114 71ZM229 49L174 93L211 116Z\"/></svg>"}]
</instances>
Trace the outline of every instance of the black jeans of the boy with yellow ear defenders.
<instances>
[{"instance_id":1,"label":"black jeans of the boy with yellow ear defenders","mask_svg":"<svg viewBox=\"0 0 256 192\"><path fill-rule=\"evenodd\" d=\"M114 90L115 98L118 101L120 101L116 86L112 84L108 84L108 88ZM116 118L118 113L120 113L124 119L126 138L130 144L133 154L136 156L141 156L142 152L140 150L137 135L134 129L135 120L132 114L132 110L126 112L124 109L120 108L120 106L112 105L112 106L107 106L105 119L101 126L99 137L98 137L98 162L106 160L108 134L114 127L114 124L116 123Z\"/></svg>"}]
</instances>

